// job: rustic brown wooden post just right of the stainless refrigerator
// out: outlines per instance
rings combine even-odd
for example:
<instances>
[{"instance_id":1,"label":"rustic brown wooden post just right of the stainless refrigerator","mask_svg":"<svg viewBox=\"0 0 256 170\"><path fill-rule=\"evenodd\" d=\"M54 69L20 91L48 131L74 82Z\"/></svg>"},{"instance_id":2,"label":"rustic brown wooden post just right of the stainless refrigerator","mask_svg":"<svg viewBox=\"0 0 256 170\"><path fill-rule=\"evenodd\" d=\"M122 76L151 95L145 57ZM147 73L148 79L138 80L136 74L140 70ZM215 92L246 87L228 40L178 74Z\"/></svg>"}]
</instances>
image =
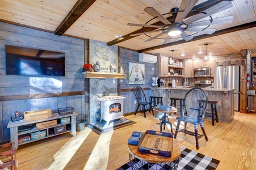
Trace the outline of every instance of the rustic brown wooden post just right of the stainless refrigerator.
<instances>
[{"instance_id":1,"label":"rustic brown wooden post just right of the stainless refrigerator","mask_svg":"<svg viewBox=\"0 0 256 170\"><path fill-rule=\"evenodd\" d=\"M240 112L247 113L247 88L246 88L246 54L247 50L242 49L240 54Z\"/></svg>"}]
</instances>

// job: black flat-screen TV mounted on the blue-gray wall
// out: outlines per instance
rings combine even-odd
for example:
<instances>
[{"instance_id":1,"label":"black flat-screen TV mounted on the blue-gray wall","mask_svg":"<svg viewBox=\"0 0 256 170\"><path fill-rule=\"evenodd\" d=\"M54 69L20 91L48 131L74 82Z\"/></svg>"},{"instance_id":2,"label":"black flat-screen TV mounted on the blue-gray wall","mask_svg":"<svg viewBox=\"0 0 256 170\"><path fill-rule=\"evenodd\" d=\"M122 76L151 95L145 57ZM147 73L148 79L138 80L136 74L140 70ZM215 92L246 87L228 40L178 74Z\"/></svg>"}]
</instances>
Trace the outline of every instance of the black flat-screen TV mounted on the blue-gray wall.
<instances>
[{"instance_id":1,"label":"black flat-screen TV mounted on the blue-gray wall","mask_svg":"<svg viewBox=\"0 0 256 170\"><path fill-rule=\"evenodd\" d=\"M6 75L65 76L65 53L6 45Z\"/></svg>"}]
</instances>

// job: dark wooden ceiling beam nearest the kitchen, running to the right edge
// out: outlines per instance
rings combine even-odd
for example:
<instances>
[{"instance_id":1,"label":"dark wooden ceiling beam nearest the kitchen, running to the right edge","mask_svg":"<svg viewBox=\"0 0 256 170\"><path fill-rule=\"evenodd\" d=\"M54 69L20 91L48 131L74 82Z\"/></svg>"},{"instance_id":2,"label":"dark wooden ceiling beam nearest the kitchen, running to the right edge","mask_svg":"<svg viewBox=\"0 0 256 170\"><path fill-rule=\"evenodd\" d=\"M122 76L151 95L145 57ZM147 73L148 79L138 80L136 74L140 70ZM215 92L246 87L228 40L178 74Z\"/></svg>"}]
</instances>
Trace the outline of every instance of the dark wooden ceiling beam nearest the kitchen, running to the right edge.
<instances>
[{"instance_id":1,"label":"dark wooden ceiling beam nearest the kitchen, running to the right edge","mask_svg":"<svg viewBox=\"0 0 256 170\"><path fill-rule=\"evenodd\" d=\"M251 22L251 23L242 24L242 25L237 25L237 26L231 27L231 28L221 29L220 31L216 31L216 32L212 33L211 35L195 36L189 42L196 41L196 40L207 39L209 37L219 36L219 35L223 35L225 33L240 31L242 29L253 28L253 27L255 27L255 25L256 25L256 21L255 22ZM137 50L137 52L144 53L144 52L148 52L150 50L156 50L156 49L165 48L165 47L172 46L172 45L183 44L183 43L186 43L186 42L188 42L188 41L179 40L179 41L169 42L169 43L166 43L166 44L152 46L150 48L145 48L145 49Z\"/></svg>"}]
</instances>

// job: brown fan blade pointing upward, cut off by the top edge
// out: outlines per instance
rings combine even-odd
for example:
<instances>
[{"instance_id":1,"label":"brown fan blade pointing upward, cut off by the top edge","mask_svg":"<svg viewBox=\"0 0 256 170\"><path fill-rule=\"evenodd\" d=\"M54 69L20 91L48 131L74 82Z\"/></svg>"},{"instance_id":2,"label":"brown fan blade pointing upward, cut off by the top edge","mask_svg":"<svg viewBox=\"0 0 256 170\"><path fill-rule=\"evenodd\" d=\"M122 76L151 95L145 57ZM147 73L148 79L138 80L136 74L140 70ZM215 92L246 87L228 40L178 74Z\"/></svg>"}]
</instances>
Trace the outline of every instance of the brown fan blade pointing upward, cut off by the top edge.
<instances>
[{"instance_id":1,"label":"brown fan blade pointing upward, cut off by the top edge","mask_svg":"<svg viewBox=\"0 0 256 170\"><path fill-rule=\"evenodd\" d=\"M183 0L181 2L181 6L179 7L179 11L184 11L184 12L178 12L175 19L175 23L181 23L182 20L187 16L187 14L195 6L197 2L198 0Z\"/></svg>"}]
</instances>

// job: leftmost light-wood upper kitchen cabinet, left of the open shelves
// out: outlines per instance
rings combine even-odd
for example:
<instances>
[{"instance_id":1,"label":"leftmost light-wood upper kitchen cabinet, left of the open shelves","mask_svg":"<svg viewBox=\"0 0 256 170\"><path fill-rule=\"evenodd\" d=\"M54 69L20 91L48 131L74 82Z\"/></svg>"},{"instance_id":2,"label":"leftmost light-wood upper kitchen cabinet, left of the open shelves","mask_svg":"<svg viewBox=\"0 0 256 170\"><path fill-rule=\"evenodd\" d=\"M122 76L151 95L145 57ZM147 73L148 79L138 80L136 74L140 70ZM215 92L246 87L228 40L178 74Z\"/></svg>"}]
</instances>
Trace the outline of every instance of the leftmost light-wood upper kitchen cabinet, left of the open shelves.
<instances>
[{"instance_id":1,"label":"leftmost light-wood upper kitchen cabinet, left of the open shelves","mask_svg":"<svg viewBox=\"0 0 256 170\"><path fill-rule=\"evenodd\" d=\"M157 62L155 64L156 76L166 77L168 72L168 56L157 54Z\"/></svg>"}]
</instances>

